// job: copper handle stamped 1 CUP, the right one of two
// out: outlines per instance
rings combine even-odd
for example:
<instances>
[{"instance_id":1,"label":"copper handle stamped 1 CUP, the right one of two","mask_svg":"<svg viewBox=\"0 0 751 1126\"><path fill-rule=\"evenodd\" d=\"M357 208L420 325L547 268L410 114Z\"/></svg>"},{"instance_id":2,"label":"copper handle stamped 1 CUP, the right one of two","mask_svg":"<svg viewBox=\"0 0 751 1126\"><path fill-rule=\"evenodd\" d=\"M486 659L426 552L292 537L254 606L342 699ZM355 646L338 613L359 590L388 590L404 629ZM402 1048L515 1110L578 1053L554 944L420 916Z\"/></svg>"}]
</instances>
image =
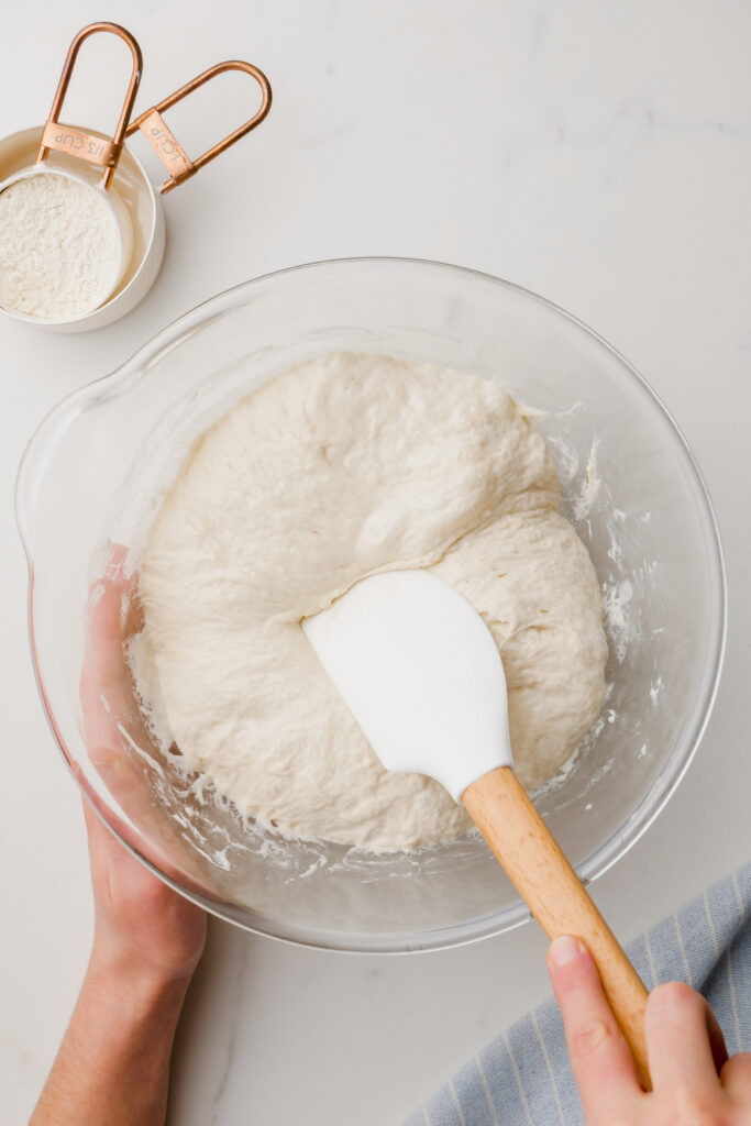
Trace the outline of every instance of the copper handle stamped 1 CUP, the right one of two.
<instances>
[{"instance_id":1,"label":"copper handle stamped 1 CUP, the right one of two","mask_svg":"<svg viewBox=\"0 0 751 1126\"><path fill-rule=\"evenodd\" d=\"M224 71L239 70L244 71L245 74L250 74L261 88L261 105L259 109L250 117L243 125L236 128L233 133L227 134L222 141L218 141L212 149L207 149L206 152L202 153L200 157L196 157L191 160L182 145L179 143L172 131L169 128L162 113L173 106L176 102L181 101L187 95L193 93L198 87L204 86L205 82L211 81L217 74L222 74ZM136 129L140 129L145 136L146 141L154 150L162 164L170 173L169 179L160 187L162 195L171 191L179 184L182 184L189 177L195 176L196 172L207 164L209 160L214 160L220 153L233 145L240 137L244 137L247 133L254 129L257 125L263 120L269 109L271 108L271 86L267 79L263 71L259 70L258 66L253 66L252 63L242 62L239 59L230 60L229 62L217 63L215 66L209 66L205 70L203 74L198 74L197 78L191 79L181 86L179 90L170 93L167 98L157 102L151 109L146 109L138 117L134 118L127 127L126 136L131 136Z\"/></svg>"}]
</instances>

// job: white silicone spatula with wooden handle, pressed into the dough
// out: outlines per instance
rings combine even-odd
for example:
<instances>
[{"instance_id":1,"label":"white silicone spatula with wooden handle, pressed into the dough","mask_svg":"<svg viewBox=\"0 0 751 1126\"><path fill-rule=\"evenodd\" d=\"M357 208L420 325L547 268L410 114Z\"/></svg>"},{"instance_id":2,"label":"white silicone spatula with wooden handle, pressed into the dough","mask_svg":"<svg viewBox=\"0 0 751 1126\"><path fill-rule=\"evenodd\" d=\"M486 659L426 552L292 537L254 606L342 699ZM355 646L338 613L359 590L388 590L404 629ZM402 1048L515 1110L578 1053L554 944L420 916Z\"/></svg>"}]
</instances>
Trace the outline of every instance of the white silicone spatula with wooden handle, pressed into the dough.
<instances>
[{"instance_id":1,"label":"white silicone spatula with wooden handle, pressed into the dough","mask_svg":"<svg viewBox=\"0 0 751 1126\"><path fill-rule=\"evenodd\" d=\"M646 990L512 770L506 677L472 606L427 571L364 579L302 623L387 770L463 802L551 938L581 938L649 1087Z\"/></svg>"}]
</instances>

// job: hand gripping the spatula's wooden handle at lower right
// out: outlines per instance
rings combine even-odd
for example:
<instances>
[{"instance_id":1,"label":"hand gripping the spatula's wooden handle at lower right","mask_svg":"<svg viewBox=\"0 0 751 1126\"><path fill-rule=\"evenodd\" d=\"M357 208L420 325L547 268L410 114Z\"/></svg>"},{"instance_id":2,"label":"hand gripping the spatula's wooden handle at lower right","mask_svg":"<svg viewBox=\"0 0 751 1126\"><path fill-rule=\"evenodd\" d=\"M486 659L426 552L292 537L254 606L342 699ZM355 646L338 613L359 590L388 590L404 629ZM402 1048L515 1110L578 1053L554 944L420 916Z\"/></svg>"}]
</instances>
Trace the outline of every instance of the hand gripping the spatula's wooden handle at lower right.
<instances>
[{"instance_id":1,"label":"hand gripping the spatula's wooden handle at lower right","mask_svg":"<svg viewBox=\"0 0 751 1126\"><path fill-rule=\"evenodd\" d=\"M670 982L650 994L645 1031L653 1090L646 1092L583 942L556 939L548 969L587 1126L748 1126L751 1054L728 1060L699 993Z\"/></svg>"}]
</instances>

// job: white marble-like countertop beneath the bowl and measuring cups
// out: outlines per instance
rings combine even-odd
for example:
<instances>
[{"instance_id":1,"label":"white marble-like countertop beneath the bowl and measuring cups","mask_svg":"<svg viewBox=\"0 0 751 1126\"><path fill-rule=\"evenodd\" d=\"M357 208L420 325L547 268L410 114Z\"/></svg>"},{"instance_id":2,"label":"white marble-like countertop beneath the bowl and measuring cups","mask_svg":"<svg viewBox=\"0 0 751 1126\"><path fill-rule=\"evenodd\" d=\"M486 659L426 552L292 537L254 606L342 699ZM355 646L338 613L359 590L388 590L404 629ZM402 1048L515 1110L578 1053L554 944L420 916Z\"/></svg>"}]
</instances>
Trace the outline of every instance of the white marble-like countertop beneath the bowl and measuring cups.
<instances>
[{"instance_id":1,"label":"white marble-like countertop beneath the bowl and measuring cups","mask_svg":"<svg viewBox=\"0 0 751 1126\"><path fill-rule=\"evenodd\" d=\"M141 41L141 108L233 56L268 73L275 101L257 133L167 198L164 267L135 313L79 337L0 322L0 1090L9 1124L25 1120L43 1083L91 930L80 801L28 655L16 466L60 397L251 276L350 254L455 261L557 302L642 370L685 429L717 506L728 649L687 779L596 899L627 939L751 856L745 0L113 0L106 10L27 0L3 18L0 134L42 123L70 39L104 17ZM66 119L114 120L106 107L122 57L116 46L89 47ZM170 114L189 151L241 119L242 82L232 75ZM531 927L385 958L285 947L213 922L179 1033L170 1121L397 1123L543 997L544 950Z\"/></svg>"}]
</instances>

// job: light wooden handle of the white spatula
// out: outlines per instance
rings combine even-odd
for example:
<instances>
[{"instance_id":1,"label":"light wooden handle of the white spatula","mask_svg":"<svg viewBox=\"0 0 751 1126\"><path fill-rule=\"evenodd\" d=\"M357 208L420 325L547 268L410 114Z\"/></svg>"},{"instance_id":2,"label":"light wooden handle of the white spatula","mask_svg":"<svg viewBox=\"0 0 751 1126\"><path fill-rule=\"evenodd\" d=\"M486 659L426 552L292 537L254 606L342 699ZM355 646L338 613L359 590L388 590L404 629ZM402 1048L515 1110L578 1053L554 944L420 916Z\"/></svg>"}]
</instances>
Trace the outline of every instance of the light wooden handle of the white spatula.
<instances>
[{"instance_id":1,"label":"light wooden handle of the white spatula","mask_svg":"<svg viewBox=\"0 0 751 1126\"><path fill-rule=\"evenodd\" d=\"M591 951L640 1078L650 1090L646 989L513 771L491 770L465 789L462 801L547 937L572 935Z\"/></svg>"}]
</instances>

